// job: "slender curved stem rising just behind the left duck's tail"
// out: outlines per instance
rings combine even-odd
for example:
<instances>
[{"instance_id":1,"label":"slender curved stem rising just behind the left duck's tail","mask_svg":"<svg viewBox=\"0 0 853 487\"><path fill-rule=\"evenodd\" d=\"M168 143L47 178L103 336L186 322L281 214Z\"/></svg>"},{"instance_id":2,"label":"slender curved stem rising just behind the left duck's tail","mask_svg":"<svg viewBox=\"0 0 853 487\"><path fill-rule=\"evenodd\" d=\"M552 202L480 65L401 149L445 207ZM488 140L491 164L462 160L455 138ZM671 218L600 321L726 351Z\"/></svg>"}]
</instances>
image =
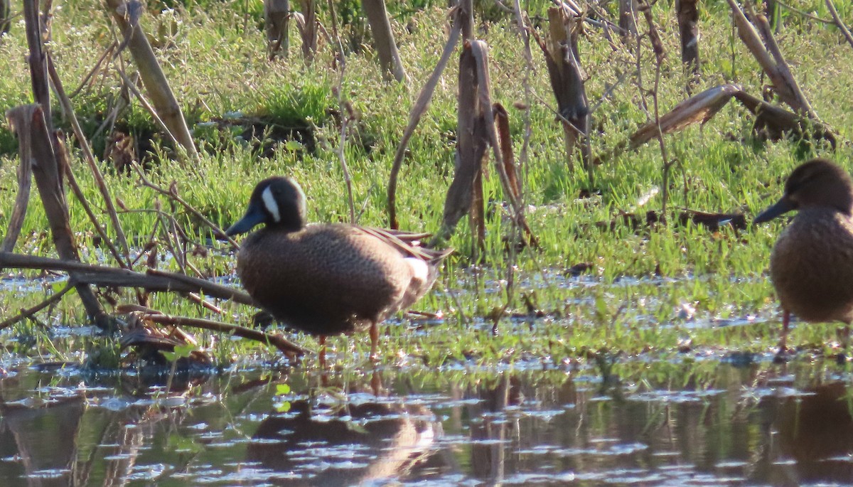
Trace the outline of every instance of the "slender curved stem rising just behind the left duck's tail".
<instances>
[{"instance_id":1,"label":"slender curved stem rising just behind the left duck's tail","mask_svg":"<svg viewBox=\"0 0 853 487\"><path fill-rule=\"evenodd\" d=\"M427 113L427 107L432 100L432 93L435 87L438 86L438 80L447 67L450 61L450 55L453 55L453 50L456 49L456 43L459 43L461 28L465 22L462 20L462 10L459 8L451 11L452 27L450 35L447 38L447 43L444 43L444 51L441 53L441 58L432 69L427 83L421 89L418 95L415 106L409 112L409 123L406 125L406 130L403 131L403 136L400 138L400 143L397 145L397 153L394 154L394 162L391 165L391 174L388 176L388 228L399 229L400 223L397 221L397 177L400 173L400 167L403 165L403 157L406 155L406 148L409 146L409 139L415 133L418 123L424 113Z\"/></svg>"}]
</instances>

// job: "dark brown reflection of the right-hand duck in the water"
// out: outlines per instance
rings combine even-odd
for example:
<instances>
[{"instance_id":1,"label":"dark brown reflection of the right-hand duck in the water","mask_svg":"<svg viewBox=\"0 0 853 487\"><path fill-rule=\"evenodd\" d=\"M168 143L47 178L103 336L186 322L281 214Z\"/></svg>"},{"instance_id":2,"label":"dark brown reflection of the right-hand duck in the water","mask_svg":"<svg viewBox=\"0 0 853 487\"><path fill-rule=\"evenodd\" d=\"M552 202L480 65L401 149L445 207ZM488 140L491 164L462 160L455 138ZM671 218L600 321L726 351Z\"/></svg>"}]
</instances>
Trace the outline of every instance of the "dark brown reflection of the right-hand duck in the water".
<instances>
[{"instance_id":1,"label":"dark brown reflection of the right-hand duck in the water","mask_svg":"<svg viewBox=\"0 0 853 487\"><path fill-rule=\"evenodd\" d=\"M755 480L773 485L853 482L853 391L844 382L768 398L769 440ZM793 460L794 462L787 462Z\"/></svg>"}]
</instances>

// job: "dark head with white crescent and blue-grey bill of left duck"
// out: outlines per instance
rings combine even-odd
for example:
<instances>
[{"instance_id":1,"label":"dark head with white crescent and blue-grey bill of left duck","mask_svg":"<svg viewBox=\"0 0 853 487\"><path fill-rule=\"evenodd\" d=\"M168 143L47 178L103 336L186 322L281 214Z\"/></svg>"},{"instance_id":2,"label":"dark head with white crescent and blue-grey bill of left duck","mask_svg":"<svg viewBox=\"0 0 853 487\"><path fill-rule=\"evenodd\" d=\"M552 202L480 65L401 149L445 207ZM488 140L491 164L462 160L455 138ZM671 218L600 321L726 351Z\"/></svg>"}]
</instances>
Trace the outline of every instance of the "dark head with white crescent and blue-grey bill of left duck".
<instances>
[{"instance_id":1,"label":"dark head with white crescent and blue-grey bill of left duck","mask_svg":"<svg viewBox=\"0 0 853 487\"><path fill-rule=\"evenodd\" d=\"M281 176L258 183L249 198L246 214L225 235L245 234L260 223L288 232L305 228L305 193L298 183Z\"/></svg>"}]
</instances>

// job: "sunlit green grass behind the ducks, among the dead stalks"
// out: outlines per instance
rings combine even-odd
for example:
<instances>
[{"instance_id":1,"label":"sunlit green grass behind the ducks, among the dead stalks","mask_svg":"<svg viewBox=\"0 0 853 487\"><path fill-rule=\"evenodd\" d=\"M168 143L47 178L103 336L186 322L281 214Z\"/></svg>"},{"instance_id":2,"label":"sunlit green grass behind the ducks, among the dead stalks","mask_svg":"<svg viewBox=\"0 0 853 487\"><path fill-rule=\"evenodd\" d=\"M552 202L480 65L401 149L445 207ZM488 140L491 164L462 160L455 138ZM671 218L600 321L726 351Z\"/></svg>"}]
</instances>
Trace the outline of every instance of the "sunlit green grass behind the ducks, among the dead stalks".
<instances>
[{"instance_id":1,"label":"sunlit green grass behind the ducks, among the dead stalks","mask_svg":"<svg viewBox=\"0 0 853 487\"><path fill-rule=\"evenodd\" d=\"M522 3L524 4L524 3ZM543 12L534 3L531 10ZM826 17L822 2L800 2L799 6ZM264 33L255 17L241 1L208 2L199 8L159 12L149 9L143 26L157 32L155 45L172 88L187 115L189 125L202 149L200 162L194 165L165 158L152 162L149 176L154 183L177 184L185 200L199 208L220 226L227 226L243 212L254 183L271 174L287 174L302 184L309 200L309 217L316 222L345 221L348 218L345 183L336 150L339 147L339 103L333 88L337 74L331 69L332 45L321 46L316 61L305 66L299 53L298 34L292 32L287 60L266 61ZM696 90L738 83L759 95L766 79L737 38L731 38L728 9L724 3L702 3L700 19L700 56L703 76ZM254 3L249 5L253 8ZM849 8L841 14L853 23ZM106 17L91 21L98 3L63 5L54 20L56 65L67 90L77 87L108 43L112 42ZM686 97L686 76L682 73L674 9L657 4L653 13L667 49L659 90L660 106L667 110ZM386 183L397 143L409 117L409 109L432 71L444 46L445 11L437 6L409 12L395 12L394 28L408 84L382 81L374 55L368 46L363 54L346 57L342 93L354 107L358 119L351 124L345 156L359 223L386 225ZM251 21L247 22L247 19ZM661 155L656 143L635 152L622 152L595 170L595 191L589 198L580 195L589 189L583 171L566 166L560 127L551 111L551 94L541 51L532 46L536 72L529 78L534 96L525 96L523 46L514 26L506 17L496 15L479 24L477 32L490 46L492 99L508 107L516 154L522 144L525 113L515 102L531 107L529 157L522 167L525 204L531 228L541 246L517 256L505 252L503 238L511 229L498 207L487 221L483 264L469 258L472 247L465 220L449 242L457 249L444 267L437 291L423 299L418 309L442 310L447 316L441 325L411 331L409 322L392 322L384 328L381 350L385 362L417 362L431 365L461 360L480 363L515 362L538 357L561 362L585 360L587 351L623 352L637 355L648 352L675 353L689 343L693 350L769 351L777 338L779 315L773 289L766 278L769 252L784 222L735 232L723 229L711 232L691 225L630 229L618 226L602 230L595 223L609 222L618 212L644 213L661 206ZM321 12L328 25L328 12ZM781 193L787 173L798 162L815 155L850 165L850 127L853 107L849 91L853 79L853 49L843 43L831 27L809 23L796 15L783 15L784 26L778 40L792 63L795 78L801 84L815 111L827 125L838 130L839 147L835 153L823 146L804 148L798 142L782 141L757 144L751 141L752 117L735 102L730 103L704 127L666 137L670 157L677 158L671 178L670 206L707 212L746 212L749 217L767 206ZM543 25L544 26L544 25ZM0 108L7 109L30 99L29 75L24 55L26 40L23 26L15 25L9 36L0 39ZM618 84L604 101L601 97L624 72L633 68L630 52L617 45L612 49L602 33L590 27L580 42L581 60L589 72L589 100L601 105L594 113L597 131L592 139L595 154L605 154L625 140L647 119L640 108L641 96L634 78ZM644 46L642 78L646 88L653 80L652 53ZM125 55L126 57L126 55ZM444 194L453 173L456 138L456 56L444 73L427 114L409 144L409 154L400 172L397 208L403 229L438 229L444 206ZM734 59L734 64L732 60ZM132 66L132 65L131 65ZM132 72L132 67L129 68ZM104 140L94 132L121 96L117 77L107 71L96 83L73 100L87 136ZM258 143L243 140L241 130L220 130L210 122L237 115L258 119L272 127L304 130L308 139L277 146L274 154L260 157ZM59 113L57 111L57 117ZM60 126L65 122L57 119ZM155 132L148 114L136 101L119 116L119 126L144 136ZM8 224L15 198L16 142L0 127L0 228ZM736 142L733 142L736 141ZM156 142L156 141L155 141ZM103 142L101 142L103 144ZM101 146L102 147L102 146ZM84 186L102 221L102 201L75 149L73 170ZM135 176L105 168L113 196L131 209L153 208L157 200L168 211L168 201L141 187ZM686 191L685 191L686 190ZM485 183L488 200L502 200L502 192L493 171ZM647 198L647 195L650 195ZM92 245L94 233L78 201L71 201L72 228L77 232L84 260L102 262L103 252ZM187 226L194 240L206 243L208 229L181 208L174 213ZM121 215L131 241L144 243L154 228L151 213ZM24 235L17 251L53 255L47 222L33 191L26 217ZM112 235L112 229L109 230ZM140 244L141 245L141 244ZM194 264L210 275L233 273L234 258L227 247L213 244L222 252L192 258ZM138 248L138 247L137 247ZM162 251L162 247L160 248ZM508 267L512 258L514 287L508 289ZM592 270L580 277L564 274L572 265L588 262ZM105 262L109 264L107 260ZM161 264L170 270L175 264ZM14 273L17 274L17 273ZM24 275L32 275L26 272ZM525 315L525 299L545 314L544 318L510 319L499 322L500 333L491 334L491 316L508 304L508 313ZM3 316L44 298L43 292L0 293ZM131 300L131 294L118 296L119 302ZM226 318L212 316L194 304L162 294L154 298L155 308L186 316L205 316L223 321L246 323L252 310L235 304L223 304ZM695 309L693 317L681 312L684 305ZM232 319L231 313L234 313ZM44 314L43 314L44 315ZM720 326L724 320L757 317L746 326ZM77 324L83 322L77 300L71 296L49 318L40 319ZM791 342L822 351L834 339L833 325L798 326ZM34 349L55 353L47 345L43 328L20 325L14 336L44 335ZM12 336L12 335L7 335ZM297 341L315 346L313 339ZM209 343L209 342L207 342ZM72 353L78 342L67 345L63 353ZM228 339L218 341L214 355L223 361L242 354L261 353L256 345ZM339 337L330 340L338 360L348 363L354 353L367 351L367 338ZM399 352L397 352L399 350ZM549 358L548 358L549 357ZM359 359L360 360L360 359Z\"/></svg>"}]
</instances>

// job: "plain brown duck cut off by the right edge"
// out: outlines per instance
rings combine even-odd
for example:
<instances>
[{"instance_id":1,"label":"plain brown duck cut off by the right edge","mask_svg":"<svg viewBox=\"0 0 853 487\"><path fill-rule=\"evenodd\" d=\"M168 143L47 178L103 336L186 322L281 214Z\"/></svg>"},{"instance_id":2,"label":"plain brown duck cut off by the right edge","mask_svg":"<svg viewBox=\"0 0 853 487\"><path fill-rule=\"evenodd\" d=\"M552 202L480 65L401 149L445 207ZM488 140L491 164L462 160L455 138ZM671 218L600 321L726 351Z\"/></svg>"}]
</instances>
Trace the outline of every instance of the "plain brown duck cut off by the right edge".
<instances>
[{"instance_id":1,"label":"plain brown duck cut off by the right edge","mask_svg":"<svg viewBox=\"0 0 853 487\"><path fill-rule=\"evenodd\" d=\"M812 159L795 169L785 194L755 217L769 221L797 210L770 255L770 277L782 305L780 353L790 314L806 322L853 321L853 181L838 165ZM844 328L846 345L849 329ZM843 357L843 356L839 356Z\"/></svg>"}]
</instances>

